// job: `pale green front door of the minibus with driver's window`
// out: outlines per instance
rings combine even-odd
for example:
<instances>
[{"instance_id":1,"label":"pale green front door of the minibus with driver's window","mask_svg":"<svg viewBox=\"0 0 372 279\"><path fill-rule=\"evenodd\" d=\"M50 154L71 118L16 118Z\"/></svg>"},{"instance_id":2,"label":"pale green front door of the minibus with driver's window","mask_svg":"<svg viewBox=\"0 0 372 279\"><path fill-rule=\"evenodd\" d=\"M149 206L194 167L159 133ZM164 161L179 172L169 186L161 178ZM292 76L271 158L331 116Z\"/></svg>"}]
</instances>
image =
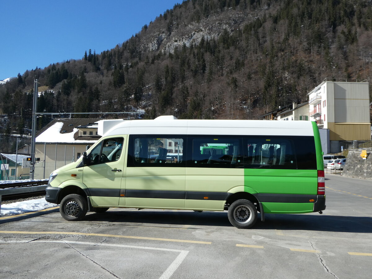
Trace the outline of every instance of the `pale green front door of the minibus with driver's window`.
<instances>
[{"instance_id":1,"label":"pale green front door of the minibus with driver's window","mask_svg":"<svg viewBox=\"0 0 372 279\"><path fill-rule=\"evenodd\" d=\"M83 167L83 183L92 206L117 206L124 173L123 137L106 138L89 154ZM124 181L125 182L125 181Z\"/></svg>"}]
</instances>

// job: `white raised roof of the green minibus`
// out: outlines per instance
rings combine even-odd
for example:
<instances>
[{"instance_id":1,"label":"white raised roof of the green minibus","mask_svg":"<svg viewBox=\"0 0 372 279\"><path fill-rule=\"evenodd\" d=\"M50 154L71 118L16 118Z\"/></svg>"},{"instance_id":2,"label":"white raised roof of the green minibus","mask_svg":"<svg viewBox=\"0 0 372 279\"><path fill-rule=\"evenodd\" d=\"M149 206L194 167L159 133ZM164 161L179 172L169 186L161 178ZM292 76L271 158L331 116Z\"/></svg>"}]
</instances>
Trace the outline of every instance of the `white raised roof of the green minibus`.
<instances>
[{"instance_id":1,"label":"white raised roof of the green minibus","mask_svg":"<svg viewBox=\"0 0 372 279\"><path fill-rule=\"evenodd\" d=\"M292 135L313 136L311 121L196 120L159 116L154 120L100 121L99 134L110 135Z\"/></svg>"}]
</instances>

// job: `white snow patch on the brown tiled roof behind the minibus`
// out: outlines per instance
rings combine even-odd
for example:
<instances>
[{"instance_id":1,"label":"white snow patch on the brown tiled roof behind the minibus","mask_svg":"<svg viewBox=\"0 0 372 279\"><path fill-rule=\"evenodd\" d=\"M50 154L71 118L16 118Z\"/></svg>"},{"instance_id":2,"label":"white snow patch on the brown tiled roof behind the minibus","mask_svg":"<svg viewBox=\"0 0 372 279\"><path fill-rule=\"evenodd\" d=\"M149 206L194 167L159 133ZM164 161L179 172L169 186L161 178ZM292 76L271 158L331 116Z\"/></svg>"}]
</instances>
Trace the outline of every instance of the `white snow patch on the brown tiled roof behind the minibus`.
<instances>
[{"instance_id":1,"label":"white snow patch on the brown tiled roof behind the minibus","mask_svg":"<svg viewBox=\"0 0 372 279\"><path fill-rule=\"evenodd\" d=\"M76 140L74 135L78 132L77 128L73 128L73 131L70 133L61 133L61 128L63 126L63 122L55 122L52 126L50 126L47 130L42 132L38 137L36 137L36 143L75 143L75 144L93 144L97 140Z\"/></svg>"}]
</instances>

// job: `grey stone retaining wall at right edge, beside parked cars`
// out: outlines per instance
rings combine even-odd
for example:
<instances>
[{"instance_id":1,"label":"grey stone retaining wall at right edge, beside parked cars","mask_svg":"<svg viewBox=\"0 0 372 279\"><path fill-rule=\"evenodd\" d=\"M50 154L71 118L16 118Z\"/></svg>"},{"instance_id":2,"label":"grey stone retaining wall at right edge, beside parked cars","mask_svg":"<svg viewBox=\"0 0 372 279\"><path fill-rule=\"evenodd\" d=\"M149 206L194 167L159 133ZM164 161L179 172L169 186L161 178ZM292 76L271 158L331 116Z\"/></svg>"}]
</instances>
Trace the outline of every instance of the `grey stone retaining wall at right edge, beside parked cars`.
<instances>
[{"instance_id":1,"label":"grey stone retaining wall at right edge, beside parked cars","mask_svg":"<svg viewBox=\"0 0 372 279\"><path fill-rule=\"evenodd\" d=\"M366 160L360 157L362 150L367 150ZM372 148L349 149L342 175L372 180Z\"/></svg>"}]
</instances>

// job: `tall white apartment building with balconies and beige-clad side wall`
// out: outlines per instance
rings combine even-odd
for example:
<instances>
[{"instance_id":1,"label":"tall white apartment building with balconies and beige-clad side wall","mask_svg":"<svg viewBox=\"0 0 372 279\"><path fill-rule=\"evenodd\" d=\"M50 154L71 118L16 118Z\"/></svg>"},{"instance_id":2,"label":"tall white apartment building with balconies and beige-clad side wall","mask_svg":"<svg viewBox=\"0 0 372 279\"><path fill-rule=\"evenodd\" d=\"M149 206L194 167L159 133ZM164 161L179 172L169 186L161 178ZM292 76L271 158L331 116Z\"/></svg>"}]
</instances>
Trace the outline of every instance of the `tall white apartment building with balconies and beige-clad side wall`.
<instances>
[{"instance_id":1,"label":"tall white apartment building with balconies and beige-clad side wall","mask_svg":"<svg viewBox=\"0 0 372 279\"><path fill-rule=\"evenodd\" d=\"M367 80L326 78L308 93L310 120L329 129L330 153L339 152L342 141L371 140L368 86Z\"/></svg>"}]
</instances>

